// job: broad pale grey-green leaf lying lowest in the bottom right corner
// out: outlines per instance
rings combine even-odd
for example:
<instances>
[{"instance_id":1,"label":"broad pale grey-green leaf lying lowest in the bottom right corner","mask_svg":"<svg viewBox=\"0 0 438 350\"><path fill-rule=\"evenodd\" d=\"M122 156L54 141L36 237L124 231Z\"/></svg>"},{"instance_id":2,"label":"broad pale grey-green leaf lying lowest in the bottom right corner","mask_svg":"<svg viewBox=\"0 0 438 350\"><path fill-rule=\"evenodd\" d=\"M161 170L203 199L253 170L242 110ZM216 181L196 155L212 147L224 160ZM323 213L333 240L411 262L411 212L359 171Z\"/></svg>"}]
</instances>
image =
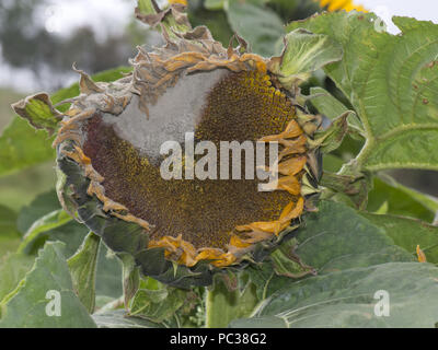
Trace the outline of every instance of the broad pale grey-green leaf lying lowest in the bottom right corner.
<instances>
[{"instance_id":1,"label":"broad pale grey-green leaf lying lowest in the bottom right corner","mask_svg":"<svg viewBox=\"0 0 438 350\"><path fill-rule=\"evenodd\" d=\"M437 267L419 262L388 262L308 278L275 292L254 318L231 326L434 328L437 279ZM378 291L388 292L388 316L374 313Z\"/></svg>"}]
</instances>

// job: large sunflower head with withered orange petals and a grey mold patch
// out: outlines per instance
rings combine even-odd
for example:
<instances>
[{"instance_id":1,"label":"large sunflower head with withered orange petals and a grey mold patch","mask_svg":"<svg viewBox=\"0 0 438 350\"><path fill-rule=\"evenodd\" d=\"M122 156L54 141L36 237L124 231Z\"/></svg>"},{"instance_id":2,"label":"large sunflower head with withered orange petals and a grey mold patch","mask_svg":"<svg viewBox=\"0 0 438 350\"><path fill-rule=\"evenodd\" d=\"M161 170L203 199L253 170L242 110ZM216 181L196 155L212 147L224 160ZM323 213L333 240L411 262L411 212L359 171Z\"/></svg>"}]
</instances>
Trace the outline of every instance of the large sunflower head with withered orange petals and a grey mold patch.
<instances>
[{"instance_id":1,"label":"large sunflower head with withered orange petals and a grey mold patch","mask_svg":"<svg viewBox=\"0 0 438 350\"><path fill-rule=\"evenodd\" d=\"M58 195L145 275L206 285L299 225L318 183L318 118L239 36L224 48L204 26L162 33L116 82L78 70L54 143Z\"/></svg>"}]
</instances>

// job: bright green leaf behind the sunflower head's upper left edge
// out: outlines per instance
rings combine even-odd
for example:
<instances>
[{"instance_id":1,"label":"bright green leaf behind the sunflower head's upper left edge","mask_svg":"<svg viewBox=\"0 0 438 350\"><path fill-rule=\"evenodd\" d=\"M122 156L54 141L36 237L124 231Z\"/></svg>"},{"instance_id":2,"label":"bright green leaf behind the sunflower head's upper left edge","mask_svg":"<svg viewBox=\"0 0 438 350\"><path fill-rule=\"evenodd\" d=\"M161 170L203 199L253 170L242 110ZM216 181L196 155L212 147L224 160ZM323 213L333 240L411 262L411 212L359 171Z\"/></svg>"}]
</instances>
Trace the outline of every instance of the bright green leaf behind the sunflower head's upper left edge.
<instances>
[{"instance_id":1,"label":"bright green leaf behind the sunflower head's upper left edge","mask_svg":"<svg viewBox=\"0 0 438 350\"><path fill-rule=\"evenodd\" d=\"M119 67L93 75L95 81L114 81L129 72L130 68ZM67 89L61 89L51 96L53 104L79 95L79 85L76 83ZM58 109L64 112L68 105ZM38 118L47 116L50 127L54 127L53 115L44 114L46 109L39 109L42 115L33 115ZM15 117L0 136L0 176L9 173L43 163L55 159L55 151L51 149L53 138L45 130L34 130L32 126L20 117Z\"/></svg>"}]
</instances>

